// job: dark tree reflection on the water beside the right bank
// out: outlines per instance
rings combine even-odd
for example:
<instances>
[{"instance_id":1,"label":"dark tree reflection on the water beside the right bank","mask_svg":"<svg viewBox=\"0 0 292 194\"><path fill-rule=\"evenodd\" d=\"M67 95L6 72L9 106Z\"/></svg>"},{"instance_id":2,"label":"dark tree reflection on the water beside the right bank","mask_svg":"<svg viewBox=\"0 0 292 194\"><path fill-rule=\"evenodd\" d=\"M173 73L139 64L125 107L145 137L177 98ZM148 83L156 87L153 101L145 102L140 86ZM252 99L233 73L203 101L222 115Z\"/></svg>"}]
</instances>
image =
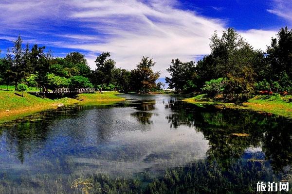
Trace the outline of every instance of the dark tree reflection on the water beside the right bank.
<instances>
[{"instance_id":1,"label":"dark tree reflection on the water beside the right bank","mask_svg":"<svg viewBox=\"0 0 292 194\"><path fill-rule=\"evenodd\" d=\"M190 108L192 106L192 108ZM262 146L276 172L292 165L292 121L268 113L200 107L181 101L166 116L171 128L195 127L209 140L208 159L224 167L240 159L248 147ZM246 136L236 134L245 133ZM255 157L255 155L253 155ZM263 158L260 158L263 159Z\"/></svg>"}]
</instances>

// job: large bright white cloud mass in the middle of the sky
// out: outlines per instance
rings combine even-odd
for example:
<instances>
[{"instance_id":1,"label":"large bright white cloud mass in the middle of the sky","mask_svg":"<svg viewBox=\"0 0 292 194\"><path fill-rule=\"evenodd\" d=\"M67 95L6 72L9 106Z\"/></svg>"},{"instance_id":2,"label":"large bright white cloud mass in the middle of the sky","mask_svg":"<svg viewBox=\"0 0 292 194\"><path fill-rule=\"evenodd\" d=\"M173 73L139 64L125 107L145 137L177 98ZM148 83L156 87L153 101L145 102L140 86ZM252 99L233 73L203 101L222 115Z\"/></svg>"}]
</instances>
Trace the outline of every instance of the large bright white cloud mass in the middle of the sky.
<instances>
[{"instance_id":1,"label":"large bright white cloud mass in the middle of the sky","mask_svg":"<svg viewBox=\"0 0 292 194\"><path fill-rule=\"evenodd\" d=\"M104 0L80 3L82 11L74 11L72 17L98 21L92 22L91 27L110 34L110 38L105 43L71 44L68 47L110 51L117 66L128 69L134 68L142 56L153 57L157 62L154 69L160 70L164 77L172 58L189 61L208 54L209 37L215 30L224 28L221 20L176 9L168 2L145 4L137 0Z\"/></svg>"}]
</instances>

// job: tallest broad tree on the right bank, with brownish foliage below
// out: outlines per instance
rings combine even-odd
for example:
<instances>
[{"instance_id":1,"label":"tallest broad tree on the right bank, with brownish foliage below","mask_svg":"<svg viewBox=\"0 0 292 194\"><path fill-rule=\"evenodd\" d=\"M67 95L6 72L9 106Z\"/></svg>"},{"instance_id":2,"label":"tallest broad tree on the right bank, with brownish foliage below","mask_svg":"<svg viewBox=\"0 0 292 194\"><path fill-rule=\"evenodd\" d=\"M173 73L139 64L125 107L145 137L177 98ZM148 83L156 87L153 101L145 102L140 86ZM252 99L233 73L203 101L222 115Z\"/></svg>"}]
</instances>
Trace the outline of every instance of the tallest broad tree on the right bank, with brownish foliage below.
<instances>
[{"instance_id":1,"label":"tallest broad tree on the right bank, with brownish foliage below","mask_svg":"<svg viewBox=\"0 0 292 194\"><path fill-rule=\"evenodd\" d=\"M223 97L231 101L245 101L254 92L256 79L268 78L264 55L253 49L233 28L223 31L221 37L215 32L211 37L211 54L198 62L196 67L198 85L206 77L226 78Z\"/></svg>"}]
</instances>

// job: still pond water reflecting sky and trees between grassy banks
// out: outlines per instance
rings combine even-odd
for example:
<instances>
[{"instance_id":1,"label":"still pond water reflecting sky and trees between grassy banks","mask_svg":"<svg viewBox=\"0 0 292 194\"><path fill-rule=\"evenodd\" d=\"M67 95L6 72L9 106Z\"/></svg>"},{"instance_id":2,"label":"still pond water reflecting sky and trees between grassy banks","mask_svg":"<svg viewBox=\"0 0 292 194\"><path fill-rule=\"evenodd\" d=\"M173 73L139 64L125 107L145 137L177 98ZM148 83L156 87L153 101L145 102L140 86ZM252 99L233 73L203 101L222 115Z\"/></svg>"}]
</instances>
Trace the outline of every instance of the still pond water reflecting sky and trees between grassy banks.
<instances>
[{"instance_id":1,"label":"still pond water reflecting sky and trees between grassy banks","mask_svg":"<svg viewBox=\"0 0 292 194\"><path fill-rule=\"evenodd\" d=\"M63 107L0 124L0 194L86 193L71 188L72 182L92 175L138 179L141 192L169 169L183 169L181 174L191 169L200 184L214 187L188 184L192 193L238 188L253 193L257 181L291 181L291 120L196 106L176 96L121 96L127 100ZM236 188L217 191L214 181ZM187 193L183 189L179 193Z\"/></svg>"}]
</instances>

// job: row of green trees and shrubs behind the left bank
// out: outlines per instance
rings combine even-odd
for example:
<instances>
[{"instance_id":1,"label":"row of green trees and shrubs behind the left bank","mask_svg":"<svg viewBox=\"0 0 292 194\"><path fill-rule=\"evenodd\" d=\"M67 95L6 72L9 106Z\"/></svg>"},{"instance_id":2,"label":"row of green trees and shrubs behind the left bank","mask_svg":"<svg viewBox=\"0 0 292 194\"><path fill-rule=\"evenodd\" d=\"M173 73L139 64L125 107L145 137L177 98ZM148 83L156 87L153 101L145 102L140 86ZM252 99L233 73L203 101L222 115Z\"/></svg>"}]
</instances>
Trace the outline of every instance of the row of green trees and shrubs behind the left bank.
<instances>
[{"instance_id":1,"label":"row of green trees and shrubs behind the left bank","mask_svg":"<svg viewBox=\"0 0 292 194\"><path fill-rule=\"evenodd\" d=\"M71 52L65 58L53 57L45 52L45 47L37 44L30 49L27 44L22 48L22 39L7 49L4 58L0 58L0 84L15 85L15 90L25 91L27 87L37 87L42 93L57 88L69 87L96 88L102 91L121 90L147 93L161 90L162 82L156 83L160 73L153 72L155 62L143 57L137 68L131 71L115 67L109 52L103 52L95 60L96 69L91 70L85 56Z\"/></svg>"}]
</instances>

